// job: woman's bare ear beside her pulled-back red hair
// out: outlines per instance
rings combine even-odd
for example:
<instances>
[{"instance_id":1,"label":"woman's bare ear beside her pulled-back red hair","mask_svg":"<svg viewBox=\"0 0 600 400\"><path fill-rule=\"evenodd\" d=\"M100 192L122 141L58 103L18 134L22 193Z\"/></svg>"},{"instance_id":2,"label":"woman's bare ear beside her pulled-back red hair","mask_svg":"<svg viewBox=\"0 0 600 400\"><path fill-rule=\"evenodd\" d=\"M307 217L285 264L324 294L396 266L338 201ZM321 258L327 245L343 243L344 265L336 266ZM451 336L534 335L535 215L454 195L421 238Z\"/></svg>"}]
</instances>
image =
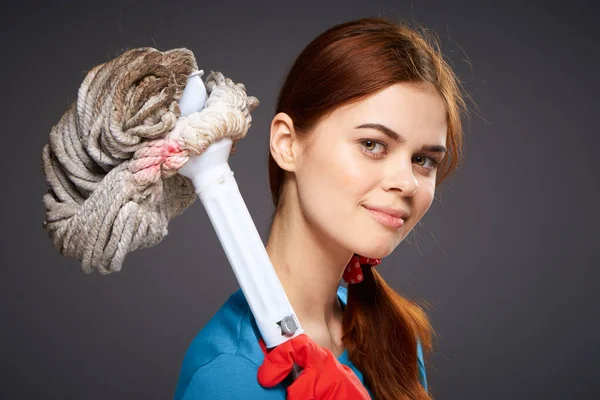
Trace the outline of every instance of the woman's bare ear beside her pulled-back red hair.
<instances>
[{"instance_id":1,"label":"woman's bare ear beside her pulled-back red hair","mask_svg":"<svg viewBox=\"0 0 600 400\"><path fill-rule=\"evenodd\" d=\"M298 138L294 121L286 113L278 113L271 121L271 155L279 167L294 171L298 162Z\"/></svg>"}]
</instances>

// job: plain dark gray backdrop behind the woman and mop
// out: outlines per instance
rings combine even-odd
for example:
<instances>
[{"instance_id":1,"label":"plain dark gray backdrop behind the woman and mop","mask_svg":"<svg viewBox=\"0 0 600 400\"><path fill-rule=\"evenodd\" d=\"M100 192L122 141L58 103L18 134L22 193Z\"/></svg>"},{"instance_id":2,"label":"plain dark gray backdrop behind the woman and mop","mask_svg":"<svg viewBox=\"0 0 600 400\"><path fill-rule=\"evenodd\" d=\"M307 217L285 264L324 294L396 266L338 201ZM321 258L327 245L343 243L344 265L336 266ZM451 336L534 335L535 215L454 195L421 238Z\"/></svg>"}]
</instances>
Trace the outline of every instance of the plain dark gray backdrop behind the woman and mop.
<instances>
[{"instance_id":1,"label":"plain dark gray backdrop behind the woman and mop","mask_svg":"<svg viewBox=\"0 0 600 400\"><path fill-rule=\"evenodd\" d=\"M0 398L166 399L193 336L237 289L199 202L121 272L85 275L42 229L40 154L85 72L123 49L192 49L261 100L231 159L266 239L282 78L326 28L436 30L477 107L463 167L378 267L431 304L440 399L598 398L597 9L592 2L96 1L3 4Z\"/></svg>"}]
</instances>

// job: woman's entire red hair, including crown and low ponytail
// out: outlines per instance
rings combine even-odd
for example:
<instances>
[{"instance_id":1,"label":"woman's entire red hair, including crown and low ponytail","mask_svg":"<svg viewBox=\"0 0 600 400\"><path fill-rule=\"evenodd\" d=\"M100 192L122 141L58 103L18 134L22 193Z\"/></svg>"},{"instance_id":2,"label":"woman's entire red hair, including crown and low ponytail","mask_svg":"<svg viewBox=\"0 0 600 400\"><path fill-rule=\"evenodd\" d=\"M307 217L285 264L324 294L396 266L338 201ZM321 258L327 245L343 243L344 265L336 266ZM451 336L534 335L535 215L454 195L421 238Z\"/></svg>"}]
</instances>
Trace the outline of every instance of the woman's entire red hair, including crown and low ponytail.
<instances>
[{"instance_id":1,"label":"woman's entire red hair, including crown and low ponytail","mask_svg":"<svg viewBox=\"0 0 600 400\"><path fill-rule=\"evenodd\" d=\"M334 26L304 48L292 65L277 101L298 134L308 135L335 108L359 101L400 82L433 85L445 102L448 154L438 167L436 186L462 157L461 114L466 110L460 82L444 61L436 40L383 18ZM269 154L273 202L279 204L285 171ZM343 342L365 383L380 400L430 399L418 380L417 340L425 353L433 330L425 312L390 288L377 271L349 285Z\"/></svg>"}]
</instances>

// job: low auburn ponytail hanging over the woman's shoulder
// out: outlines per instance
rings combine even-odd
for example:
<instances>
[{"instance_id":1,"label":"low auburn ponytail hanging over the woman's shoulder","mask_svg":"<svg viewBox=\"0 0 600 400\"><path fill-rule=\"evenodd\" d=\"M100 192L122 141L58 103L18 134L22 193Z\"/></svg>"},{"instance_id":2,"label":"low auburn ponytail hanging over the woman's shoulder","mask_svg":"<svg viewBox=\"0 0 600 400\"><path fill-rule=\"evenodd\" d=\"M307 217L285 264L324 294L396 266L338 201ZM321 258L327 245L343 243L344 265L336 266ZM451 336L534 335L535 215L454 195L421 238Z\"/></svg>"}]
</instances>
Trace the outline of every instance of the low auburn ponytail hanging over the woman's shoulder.
<instances>
[{"instance_id":1,"label":"low auburn ponytail hanging over the woman's shoulder","mask_svg":"<svg viewBox=\"0 0 600 400\"><path fill-rule=\"evenodd\" d=\"M389 287L373 268L348 285L343 342L376 399L431 399L419 382L417 340L431 350L425 312Z\"/></svg>"}]
</instances>

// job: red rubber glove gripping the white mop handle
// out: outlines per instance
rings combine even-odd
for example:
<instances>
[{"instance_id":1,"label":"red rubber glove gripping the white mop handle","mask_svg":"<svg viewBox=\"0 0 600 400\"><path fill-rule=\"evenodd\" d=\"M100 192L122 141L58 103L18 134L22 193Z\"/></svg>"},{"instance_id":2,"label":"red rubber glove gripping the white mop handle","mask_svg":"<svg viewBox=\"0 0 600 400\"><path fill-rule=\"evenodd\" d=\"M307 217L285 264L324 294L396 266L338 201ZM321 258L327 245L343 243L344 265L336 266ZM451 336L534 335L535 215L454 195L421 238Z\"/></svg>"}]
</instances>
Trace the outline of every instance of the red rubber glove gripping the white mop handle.
<instances>
[{"instance_id":1,"label":"red rubber glove gripping the white mop handle","mask_svg":"<svg viewBox=\"0 0 600 400\"><path fill-rule=\"evenodd\" d=\"M303 368L287 388L288 400L370 400L369 392L354 371L341 364L327 349L301 334L267 352L258 368L258 383L264 387L279 384L290 373L294 362Z\"/></svg>"}]
</instances>

